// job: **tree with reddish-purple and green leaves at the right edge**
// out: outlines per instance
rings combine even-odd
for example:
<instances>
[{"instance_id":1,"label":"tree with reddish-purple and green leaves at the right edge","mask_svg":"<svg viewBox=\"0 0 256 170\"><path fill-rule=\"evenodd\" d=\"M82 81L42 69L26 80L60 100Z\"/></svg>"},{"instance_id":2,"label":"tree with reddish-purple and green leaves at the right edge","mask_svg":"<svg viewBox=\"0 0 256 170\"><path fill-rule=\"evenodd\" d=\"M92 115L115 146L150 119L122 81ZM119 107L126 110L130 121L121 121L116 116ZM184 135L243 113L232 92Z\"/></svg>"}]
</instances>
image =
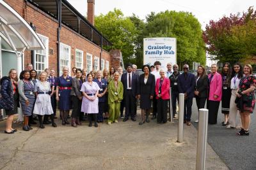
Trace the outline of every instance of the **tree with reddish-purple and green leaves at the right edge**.
<instances>
[{"instance_id":1,"label":"tree with reddish-purple and green leaves at the right edge","mask_svg":"<svg viewBox=\"0 0 256 170\"><path fill-rule=\"evenodd\" d=\"M218 21L211 20L204 31L207 52L214 60L234 63L255 55L256 11L230 14Z\"/></svg>"}]
</instances>

